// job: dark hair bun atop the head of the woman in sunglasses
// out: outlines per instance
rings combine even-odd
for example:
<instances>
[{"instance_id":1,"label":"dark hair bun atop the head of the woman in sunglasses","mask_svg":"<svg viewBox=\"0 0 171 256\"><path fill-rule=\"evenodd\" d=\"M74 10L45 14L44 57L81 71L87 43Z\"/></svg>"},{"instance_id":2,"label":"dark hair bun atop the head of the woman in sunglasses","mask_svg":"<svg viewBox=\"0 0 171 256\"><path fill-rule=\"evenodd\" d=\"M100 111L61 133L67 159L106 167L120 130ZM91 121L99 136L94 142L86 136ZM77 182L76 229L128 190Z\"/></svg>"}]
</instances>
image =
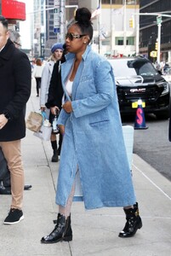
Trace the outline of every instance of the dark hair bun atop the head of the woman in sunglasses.
<instances>
[{"instance_id":1,"label":"dark hair bun atop the head of the woman in sunglasses","mask_svg":"<svg viewBox=\"0 0 171 256\"><path fill-rule=\"evenodd\" d=\"M84 24L85 26L89 26L91 24L91 13L87 8L79 8L76 11L75 20L80 23Z\"/></svg>"}]
</instances>

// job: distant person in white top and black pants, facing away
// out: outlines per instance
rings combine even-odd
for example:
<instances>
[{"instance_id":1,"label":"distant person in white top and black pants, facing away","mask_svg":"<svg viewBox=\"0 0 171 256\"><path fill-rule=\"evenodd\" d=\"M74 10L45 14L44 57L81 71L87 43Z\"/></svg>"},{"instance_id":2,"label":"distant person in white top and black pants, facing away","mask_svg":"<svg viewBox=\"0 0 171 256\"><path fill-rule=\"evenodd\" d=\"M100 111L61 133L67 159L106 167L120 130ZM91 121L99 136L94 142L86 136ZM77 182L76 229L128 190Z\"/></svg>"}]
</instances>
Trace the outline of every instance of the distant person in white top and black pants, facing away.
<instances>
[{"instance_id":1,"label":"distant person in white top and black pants, facing away","mask_svg":"<svg viewBox=\"0 0 171 256\"><path fill-rule=\"evenodd\" d=\"M36 65L34 66L34 69L32 71L32 77L36 79L36 83L37 83L37 97L39 96L42 74L43 74L43 61L37 58Z\"/></svg>"}]
</instances>

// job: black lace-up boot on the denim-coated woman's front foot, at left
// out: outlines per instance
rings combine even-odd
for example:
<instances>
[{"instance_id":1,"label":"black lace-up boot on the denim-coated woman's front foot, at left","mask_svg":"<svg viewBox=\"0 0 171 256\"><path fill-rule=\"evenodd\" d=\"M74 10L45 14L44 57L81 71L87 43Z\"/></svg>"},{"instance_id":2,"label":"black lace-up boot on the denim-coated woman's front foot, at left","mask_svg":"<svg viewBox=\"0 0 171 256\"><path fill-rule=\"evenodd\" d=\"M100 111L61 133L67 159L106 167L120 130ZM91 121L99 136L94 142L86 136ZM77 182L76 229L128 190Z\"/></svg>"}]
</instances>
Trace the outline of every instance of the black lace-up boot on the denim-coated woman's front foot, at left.
<instances>
[{"instance_id":1,"label":"black lace-up boot on the denim-coated woman's front foot, at left","mask_svg":"<svg viewBox=\"0 0 171 256\"><path fill-rule=\"evenodd\" d=\"M71 216L66 218L58 213L57 224L54 230L48 235L43 236L42 243L54 243L58 241L72 241Z\"/></svg>"}]
</instances>

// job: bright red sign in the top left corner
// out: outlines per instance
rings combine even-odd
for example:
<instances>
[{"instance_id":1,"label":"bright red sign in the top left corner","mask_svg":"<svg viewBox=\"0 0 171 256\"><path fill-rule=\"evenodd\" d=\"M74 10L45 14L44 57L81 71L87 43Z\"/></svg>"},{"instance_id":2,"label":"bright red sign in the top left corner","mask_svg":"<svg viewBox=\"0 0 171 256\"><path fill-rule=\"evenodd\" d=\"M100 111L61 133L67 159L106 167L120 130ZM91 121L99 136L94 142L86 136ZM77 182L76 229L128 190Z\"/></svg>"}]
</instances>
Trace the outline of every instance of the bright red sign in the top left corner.
<instances>
[{"instance_id":1,"label":"bright red sign in the top left corner","mask_svg":"<svg viewBox=\"0 0 171 256\"><path fill-rule=\"evenodd\" d=\"M2 15L6 19L26 20L26 3L2 0Z\"/></svg>"}]
</instances>

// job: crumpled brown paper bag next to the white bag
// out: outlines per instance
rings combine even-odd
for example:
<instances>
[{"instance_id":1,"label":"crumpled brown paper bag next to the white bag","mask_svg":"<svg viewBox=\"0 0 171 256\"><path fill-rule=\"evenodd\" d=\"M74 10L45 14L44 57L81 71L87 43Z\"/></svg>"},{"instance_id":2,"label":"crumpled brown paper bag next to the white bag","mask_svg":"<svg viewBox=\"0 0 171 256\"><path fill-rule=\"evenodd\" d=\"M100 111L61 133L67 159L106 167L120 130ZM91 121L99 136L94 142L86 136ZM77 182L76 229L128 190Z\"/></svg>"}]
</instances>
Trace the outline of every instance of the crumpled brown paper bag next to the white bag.
<instances>
[{"instance_id":1,"label":"crumpled brown paper bag next to the white bag","mask_svg":"<svg viewBox=\"0 0 171 256\"><path fill-rule=\"evenodd\" d=\"M31 131L39 131L42 125L43 115L41 113L31 111L26 119L26 128Z\"/></svg>"}]
</instances>

